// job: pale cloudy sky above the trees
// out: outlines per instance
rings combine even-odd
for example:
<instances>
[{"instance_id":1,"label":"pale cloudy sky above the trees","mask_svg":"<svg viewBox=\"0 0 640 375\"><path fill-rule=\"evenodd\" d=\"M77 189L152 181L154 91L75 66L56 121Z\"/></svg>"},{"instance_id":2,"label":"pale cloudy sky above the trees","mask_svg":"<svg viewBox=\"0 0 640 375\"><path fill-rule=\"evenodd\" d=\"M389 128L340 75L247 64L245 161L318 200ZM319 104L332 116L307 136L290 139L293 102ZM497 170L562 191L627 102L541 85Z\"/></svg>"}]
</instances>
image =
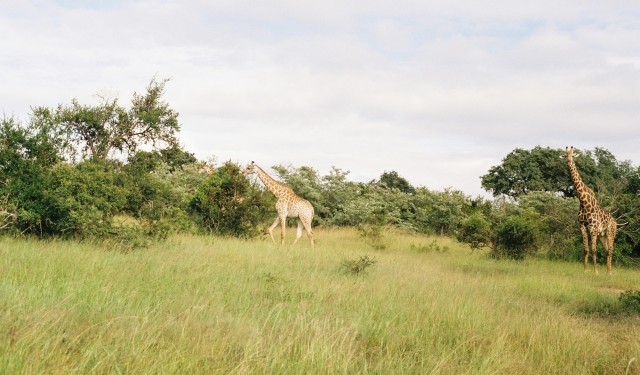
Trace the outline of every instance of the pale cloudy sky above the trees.
<instances>
[{"instance_id":1,"label":"pale cloudy sky above the trees","mask_svg":"<svg viewBox=\"0 0 640 375\"><path fill-rule=\"evenodd\" d=\"M640 164L637 0L0 0L0 35L0 115L169 78L201 160L471 196L515 148Z\"/></svg>"}]
</instances>

